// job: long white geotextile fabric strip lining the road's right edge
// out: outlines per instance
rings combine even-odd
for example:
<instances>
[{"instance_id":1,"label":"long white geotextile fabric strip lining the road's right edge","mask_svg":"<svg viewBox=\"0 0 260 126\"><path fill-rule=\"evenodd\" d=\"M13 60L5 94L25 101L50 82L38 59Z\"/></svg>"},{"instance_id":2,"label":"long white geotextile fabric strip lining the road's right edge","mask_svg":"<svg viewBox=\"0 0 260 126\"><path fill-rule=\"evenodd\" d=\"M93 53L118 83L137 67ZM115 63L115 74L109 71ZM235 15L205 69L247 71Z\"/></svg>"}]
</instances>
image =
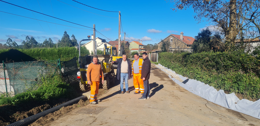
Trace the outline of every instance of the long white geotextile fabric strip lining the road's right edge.
<instances>
[{"instance_id":1,"label":"long white geotextile fabric strip lining the road's right edge","mask_svg":"<svg viewBox=\"0 0 260 126\"><path fill-rule=\"evenodd\" d=\"M156 65L158 68L169 74L169 77L179 84L181 87L186 90L207 99L210 102L218 104L220 106L250 115L252 117L260 119L260 99L252 102L246 99L239 100L235 93L226 94L223 90L217 91L214 87L209 86L208 84L196 81L194 79L189 79L187 83L182 83L177 79L173 78L172 75L175 74L179 76L183 81L187 77L176 74L174 71L162 66L161 64Z\"/></svg>"}]
</instances>

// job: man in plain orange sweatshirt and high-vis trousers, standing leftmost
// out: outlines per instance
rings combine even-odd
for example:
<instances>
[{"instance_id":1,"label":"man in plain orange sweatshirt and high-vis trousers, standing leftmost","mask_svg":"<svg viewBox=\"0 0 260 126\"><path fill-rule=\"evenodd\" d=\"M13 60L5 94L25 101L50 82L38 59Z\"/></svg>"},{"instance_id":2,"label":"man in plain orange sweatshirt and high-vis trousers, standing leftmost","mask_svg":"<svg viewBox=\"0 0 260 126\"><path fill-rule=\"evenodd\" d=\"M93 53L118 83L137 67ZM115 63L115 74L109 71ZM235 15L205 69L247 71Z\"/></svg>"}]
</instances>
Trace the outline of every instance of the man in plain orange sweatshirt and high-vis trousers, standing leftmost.
<instances>
[{"instance_id":1,"label":"man in plain orange sweatshirt and high-vis trousers, standing leftmost","mask_svg":"<svg viewBox=\"0 0 260 126\"><path fill-rule=\"evenodd\" d=\"M101 102L97 100L96 96L99 93L99 77L102 77L102 83L104 83L103 70L101 68L101 64L98 63L98 56L93 56L93 62L88 65L87 70L87 79L88 84L90 85L90 100L91 104L97 104L97 102Z\"/></svg>"}]
</instances>

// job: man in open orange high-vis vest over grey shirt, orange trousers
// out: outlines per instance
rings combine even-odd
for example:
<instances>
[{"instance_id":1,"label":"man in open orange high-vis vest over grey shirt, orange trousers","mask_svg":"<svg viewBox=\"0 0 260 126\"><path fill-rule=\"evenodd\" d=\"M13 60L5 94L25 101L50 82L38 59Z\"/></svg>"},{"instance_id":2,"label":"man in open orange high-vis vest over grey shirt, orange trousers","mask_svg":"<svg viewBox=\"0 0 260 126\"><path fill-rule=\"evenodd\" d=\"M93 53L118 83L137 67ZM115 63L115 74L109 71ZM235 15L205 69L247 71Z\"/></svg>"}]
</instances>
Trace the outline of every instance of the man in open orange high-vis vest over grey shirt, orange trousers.
<instances>
[{"instance_id":1,"label":"man in open orange high-vis vest over grey shirt, orange trousers","mask_svg":"<svg viewBox=\"0 0 260 126\"><path fill-rule=\"evenodd\" d=\"M135 87L134 94L138 94L139 89L140 89L141 93L144 93L144 82L141 79L141 70L142 70L143 59L139 58L139 54L135 54L134 57L135 57L135 60L133 61L133 64L132 64L133 84Z\"/></svg>"}]
</instances>

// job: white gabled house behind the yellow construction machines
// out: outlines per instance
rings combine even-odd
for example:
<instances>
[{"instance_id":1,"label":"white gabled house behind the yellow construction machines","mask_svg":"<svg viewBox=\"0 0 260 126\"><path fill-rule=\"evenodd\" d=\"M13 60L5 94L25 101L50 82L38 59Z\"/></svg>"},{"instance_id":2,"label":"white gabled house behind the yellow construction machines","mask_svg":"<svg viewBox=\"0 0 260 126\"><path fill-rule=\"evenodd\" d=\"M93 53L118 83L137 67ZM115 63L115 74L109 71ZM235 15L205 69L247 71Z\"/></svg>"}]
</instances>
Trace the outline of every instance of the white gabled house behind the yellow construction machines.
<instances>
[{"instance_id":1,"label":"white gabled house behind the yellow construction machines","mask_svg":"<svg viewBox=\"0 0 260 126\"><path fill-rule=\"evenodd\" d=\"M92 35L92 36L91 36L91 39L93 39L93 38L94 38L94 37L93 37L93 35ZM96 37L95 40L96 40L96 43L97 43L96 49L99 49L99 50L104 51L104 44L107 44L107 46L112 46L112 45L110 45L107 41L106 41L105 43L102 43L102 42L101 42L102 39L99 38L99 37ZM91 51L94 53L94 51L93 51L94 41L89 41L88 43L86 43L86 44L84 44L84 45L82 45L82 46L85 46L85 47L89 50L90 54L91 54Z\"/></svg>"}]
</instances>

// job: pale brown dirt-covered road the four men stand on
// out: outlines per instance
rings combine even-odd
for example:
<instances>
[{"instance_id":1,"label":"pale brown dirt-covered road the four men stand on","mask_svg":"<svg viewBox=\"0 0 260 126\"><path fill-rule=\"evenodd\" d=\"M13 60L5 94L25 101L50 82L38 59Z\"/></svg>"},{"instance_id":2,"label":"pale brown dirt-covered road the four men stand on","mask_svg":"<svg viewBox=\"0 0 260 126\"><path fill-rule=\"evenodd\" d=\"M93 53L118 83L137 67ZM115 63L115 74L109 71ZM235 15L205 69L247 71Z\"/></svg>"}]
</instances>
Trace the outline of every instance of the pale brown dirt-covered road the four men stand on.
<instances>
[{"instance_id":1,"label":"pale brown dirt-covered road the four men stand on","mask_svg":"<svg viewBox=\"0 0 260 126\"><path fill-rule=\"evenodd\" d=\"M131 78L130 93L120 94L118 84L98 98L99 104L79 107L47 125L260 125L259 119L190 93L155 65L149 83L150 99L138 100Z\"/></svg>"}]
</instances>

